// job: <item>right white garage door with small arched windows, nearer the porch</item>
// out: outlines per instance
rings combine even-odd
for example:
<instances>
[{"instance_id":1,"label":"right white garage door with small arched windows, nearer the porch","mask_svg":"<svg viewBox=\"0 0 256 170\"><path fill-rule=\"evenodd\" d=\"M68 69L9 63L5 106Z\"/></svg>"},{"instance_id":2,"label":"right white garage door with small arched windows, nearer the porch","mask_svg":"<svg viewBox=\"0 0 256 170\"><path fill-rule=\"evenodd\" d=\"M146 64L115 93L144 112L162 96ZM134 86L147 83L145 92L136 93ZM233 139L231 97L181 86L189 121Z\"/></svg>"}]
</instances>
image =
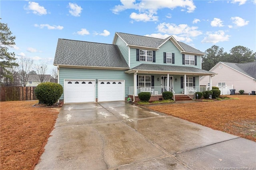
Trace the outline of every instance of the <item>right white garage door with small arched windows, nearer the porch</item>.
<instances>
[{"instance_id":1,"label":"right white garage door with small arched windows, nearer the porch","mask_svg":"<svg viewBox=\"0 0 256 170\"><path fill-rule=\"evenodd\" d=\"M124 101L124 80L99 80L98 101Z\"/></svg>"}]
</instances>

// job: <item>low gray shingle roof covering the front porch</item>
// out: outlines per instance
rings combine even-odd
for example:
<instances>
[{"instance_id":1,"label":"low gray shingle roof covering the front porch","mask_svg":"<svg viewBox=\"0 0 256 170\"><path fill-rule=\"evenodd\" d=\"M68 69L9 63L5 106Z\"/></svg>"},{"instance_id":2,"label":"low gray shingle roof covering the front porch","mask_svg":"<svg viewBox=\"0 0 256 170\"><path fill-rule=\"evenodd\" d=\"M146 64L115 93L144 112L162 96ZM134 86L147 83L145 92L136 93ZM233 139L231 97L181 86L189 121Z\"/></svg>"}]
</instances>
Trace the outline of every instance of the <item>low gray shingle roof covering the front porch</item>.
<instances>
[{"instance_id":1,"label":"low gray shingle roof covering the front porch","mask_svg":"<svg viewBox=\"0 0 256 170\"><path fill-rule=\"evenodd\" d=\"M161 72L172 72L172 73L191 73L196 75L214 75L211 71L206 71L202 69L198 69L195 67L186 67L186 66L174 66L174 65L158 65L158 64L140 64L129 71L132 70L140 70L140 71L161 71ZM126 72L129 72L126 71ZM132 72L131 72L132 73Z\"/></svg>"}]
</instances>

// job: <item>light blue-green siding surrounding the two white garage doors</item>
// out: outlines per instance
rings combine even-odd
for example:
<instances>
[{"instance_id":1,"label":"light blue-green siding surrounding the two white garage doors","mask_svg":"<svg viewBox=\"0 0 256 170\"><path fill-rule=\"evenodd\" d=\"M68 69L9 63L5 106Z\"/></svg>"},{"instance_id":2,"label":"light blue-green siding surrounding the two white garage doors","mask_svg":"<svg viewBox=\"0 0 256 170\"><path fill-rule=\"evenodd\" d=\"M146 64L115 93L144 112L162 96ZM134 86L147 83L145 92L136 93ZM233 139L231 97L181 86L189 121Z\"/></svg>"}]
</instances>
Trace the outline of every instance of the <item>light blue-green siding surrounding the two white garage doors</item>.
<instances>
[{"instance_id":1,"label":"light blue-green siding surrounding the two white garage doors","mask_svg":"<svg viewBox=\"0 0 256 170\"><path fill-rule=\"evenodd\" d=\"M125 97L128 94L129 86L133 86L133 74L124 73L124 70L104 69L78 69L60 67L60 85L64 87L64 79L98 79L98 80L124 80ZM98 98L98 84L96 84L96 98ZM63 94L60 97L63 99Z\"/></svg>"}]
</instances>

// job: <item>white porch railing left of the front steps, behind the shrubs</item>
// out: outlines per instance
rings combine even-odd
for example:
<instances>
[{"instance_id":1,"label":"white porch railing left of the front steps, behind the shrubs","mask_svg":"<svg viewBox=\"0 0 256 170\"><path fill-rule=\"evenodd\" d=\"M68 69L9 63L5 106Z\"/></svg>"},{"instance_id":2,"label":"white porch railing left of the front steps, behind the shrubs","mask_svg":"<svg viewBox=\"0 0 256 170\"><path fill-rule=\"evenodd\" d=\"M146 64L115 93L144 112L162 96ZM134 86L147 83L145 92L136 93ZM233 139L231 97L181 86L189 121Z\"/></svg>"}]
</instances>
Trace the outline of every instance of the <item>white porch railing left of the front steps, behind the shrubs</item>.
<instances>
[{"instance_id":1,"label":"white porch railing left of the front steps, behind the shrubs","mask_svg":"<svg viewBox=\"0 0 256 170\"><path fill-rule=\"evenodd\" d=\"M137 93L134 93L134 86L129 86L129 95L138 95L140 92L150 92L151 95L162 95L164 91L170 91L173 94L175 100L175 91L167 86L152 86L152 87L136 87Z\"/></svg>"}]
</instances>

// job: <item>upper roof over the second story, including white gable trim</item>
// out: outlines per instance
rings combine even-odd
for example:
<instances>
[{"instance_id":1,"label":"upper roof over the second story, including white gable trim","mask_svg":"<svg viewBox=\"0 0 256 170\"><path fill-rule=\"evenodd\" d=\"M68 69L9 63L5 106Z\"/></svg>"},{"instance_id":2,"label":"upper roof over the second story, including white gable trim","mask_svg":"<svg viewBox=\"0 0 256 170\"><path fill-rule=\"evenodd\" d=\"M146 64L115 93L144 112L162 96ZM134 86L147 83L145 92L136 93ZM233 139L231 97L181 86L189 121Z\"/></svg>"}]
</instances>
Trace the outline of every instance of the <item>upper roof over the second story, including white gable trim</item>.
<instances>
[{"instance_id":1,"label":"upper roof over the second story, including white gable trim","mask_svg":"<svg viewBox=\"0 0 256 170\"><path fill-rule=\"evenodd\" d=\"M165 39L152 38L147 36L138 36L133 34L126 34L116 32L113 43L116 41L116 36L119 36L128 46L148 47L159 49L168 40L172 41L174 45L180 50L180 52L197 53L203 55L204 53L186 43L177 42L173 36L169 36Z\"/></svg>"}]
</instances>

